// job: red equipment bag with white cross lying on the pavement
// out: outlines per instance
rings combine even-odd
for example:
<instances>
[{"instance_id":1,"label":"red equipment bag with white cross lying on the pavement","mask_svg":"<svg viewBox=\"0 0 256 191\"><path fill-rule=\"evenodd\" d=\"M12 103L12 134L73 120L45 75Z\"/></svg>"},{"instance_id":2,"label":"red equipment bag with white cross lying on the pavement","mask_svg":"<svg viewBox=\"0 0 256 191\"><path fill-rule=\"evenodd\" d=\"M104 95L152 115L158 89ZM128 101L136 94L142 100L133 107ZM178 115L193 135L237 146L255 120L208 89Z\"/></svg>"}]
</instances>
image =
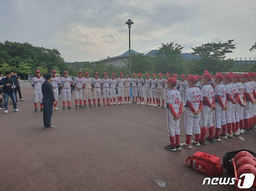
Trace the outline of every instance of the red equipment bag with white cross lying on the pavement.
<instances>
[{"instance_id":1,"label":"red equipment bag with white cross lying on the pavement","mask_svg":"<svg viewBox=\"0 0 256 191\"><path fill-rule=\"evenodd\" d=\"M187 158L185 163L187 167L189 167L187 165L189 160L191 168L207 176L216 177L221 176L223 173L223 163L221 162L221 158L216 155L197 151Z\"/></svg>"}]
</instances>

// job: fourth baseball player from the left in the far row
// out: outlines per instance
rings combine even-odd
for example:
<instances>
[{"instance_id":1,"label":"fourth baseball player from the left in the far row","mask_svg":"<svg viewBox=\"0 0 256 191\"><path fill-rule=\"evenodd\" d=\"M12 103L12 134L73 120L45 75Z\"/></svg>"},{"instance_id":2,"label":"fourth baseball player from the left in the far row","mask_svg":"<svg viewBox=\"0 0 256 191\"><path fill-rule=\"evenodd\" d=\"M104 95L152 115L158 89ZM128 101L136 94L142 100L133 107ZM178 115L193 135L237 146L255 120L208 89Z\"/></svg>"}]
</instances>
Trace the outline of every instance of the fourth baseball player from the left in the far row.
<instances>
[{"instance_id":1,"label":"fourth baseball player from the left in the far row","mask_svg":"<svg viewBox=\"0 0 256 191\"><path fill-rule=\"evenodd\" d=\"M84 88L84 78L82 77L82 71L78 71L78 77L75 77L74 83L75 83L75 108L78 108L78 99L79 99L79 108L84 108L82 105L82 98L83 98L83 91Z\"/></svg>"}]
</instances>

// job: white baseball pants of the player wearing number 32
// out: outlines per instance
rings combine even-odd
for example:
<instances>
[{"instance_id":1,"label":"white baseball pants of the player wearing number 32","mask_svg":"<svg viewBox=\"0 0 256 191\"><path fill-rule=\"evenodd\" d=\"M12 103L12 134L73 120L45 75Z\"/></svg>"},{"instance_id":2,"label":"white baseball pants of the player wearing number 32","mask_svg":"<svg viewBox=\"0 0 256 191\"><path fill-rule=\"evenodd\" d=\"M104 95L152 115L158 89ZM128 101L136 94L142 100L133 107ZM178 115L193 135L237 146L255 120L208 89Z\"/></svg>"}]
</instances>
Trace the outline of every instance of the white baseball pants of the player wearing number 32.
<instances>
[{"instance_id":1,"label":"white baseball pants of the player wearing number 32","mask_svg":"<svg viewBox=\"0 0 256 191\"><path fill-rule=\"evenodd\" d=\"M185 133L188 135L200 134L199 127L200 115L195 115L188 107L185 110Z\"/></svg>"}]
</instances>

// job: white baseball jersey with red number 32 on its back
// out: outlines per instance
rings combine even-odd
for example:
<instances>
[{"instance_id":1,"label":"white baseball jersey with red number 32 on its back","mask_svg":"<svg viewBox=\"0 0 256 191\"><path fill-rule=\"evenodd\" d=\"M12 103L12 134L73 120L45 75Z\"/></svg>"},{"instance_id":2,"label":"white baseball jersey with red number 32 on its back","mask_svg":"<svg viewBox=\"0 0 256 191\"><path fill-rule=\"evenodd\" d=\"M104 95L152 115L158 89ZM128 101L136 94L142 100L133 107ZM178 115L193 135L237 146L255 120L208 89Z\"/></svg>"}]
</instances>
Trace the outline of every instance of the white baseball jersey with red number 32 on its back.
<instances>
[{"instance_id":1,"label":"white baseball jersey with red number 32 on its back","mask_svg":"<svg viewBox=\"0 0 256 191\"><path fill-rule=\"evenodd\" d=\"M198 110L200 101L203 100L202 91L196 86L186 89L185 100L191 102L195 110Z\"/></svg>"}]
</instances>

